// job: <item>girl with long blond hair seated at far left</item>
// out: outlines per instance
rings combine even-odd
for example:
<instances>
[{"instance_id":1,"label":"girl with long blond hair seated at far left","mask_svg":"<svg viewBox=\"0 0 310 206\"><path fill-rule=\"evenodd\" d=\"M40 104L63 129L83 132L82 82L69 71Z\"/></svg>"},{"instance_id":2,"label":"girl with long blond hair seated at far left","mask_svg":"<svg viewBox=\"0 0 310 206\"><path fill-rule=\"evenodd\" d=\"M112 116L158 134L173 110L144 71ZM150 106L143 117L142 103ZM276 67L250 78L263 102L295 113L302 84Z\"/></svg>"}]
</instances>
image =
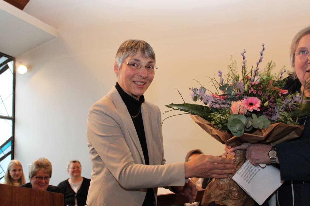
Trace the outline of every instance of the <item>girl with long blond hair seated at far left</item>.
<instances>
[{"instance_id":1,"label":"girl with long blond hair seated at far left","mask_svg":"<svg viewBox=\"0 0 310 206\"><path fill-rule=\"evenodd\" d=\"M4 175L4 184L20 186L26 183L23 166L17 160L11 160Z\"/></svg>"}]
</instances>

